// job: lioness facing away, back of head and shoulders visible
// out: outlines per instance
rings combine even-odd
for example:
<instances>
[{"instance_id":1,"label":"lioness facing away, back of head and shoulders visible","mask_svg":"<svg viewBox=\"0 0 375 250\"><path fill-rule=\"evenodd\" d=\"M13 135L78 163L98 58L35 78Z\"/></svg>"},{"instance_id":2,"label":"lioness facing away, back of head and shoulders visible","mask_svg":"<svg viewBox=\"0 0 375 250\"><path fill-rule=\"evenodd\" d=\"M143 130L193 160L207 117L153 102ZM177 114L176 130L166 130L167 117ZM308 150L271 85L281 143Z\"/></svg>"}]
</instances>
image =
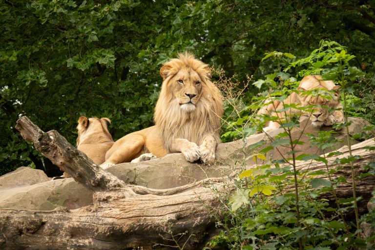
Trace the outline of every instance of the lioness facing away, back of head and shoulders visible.
<instances>
[{"instance_id":1,"label":"lioness facing away, back of head and shoulders visible","mask_svg":"<svg viewBox=\"0 0 375 250\"><path fill-rule=\"evenodd\" d=\"M112 136L108 132L111 120L108 118L78 119L77 149L85 153L96 165L104 163L105 153L113 145ZM62 177L69 177L65 172ZM57 178L55 178L57 179Z\"/></svg>"}]
</instances>

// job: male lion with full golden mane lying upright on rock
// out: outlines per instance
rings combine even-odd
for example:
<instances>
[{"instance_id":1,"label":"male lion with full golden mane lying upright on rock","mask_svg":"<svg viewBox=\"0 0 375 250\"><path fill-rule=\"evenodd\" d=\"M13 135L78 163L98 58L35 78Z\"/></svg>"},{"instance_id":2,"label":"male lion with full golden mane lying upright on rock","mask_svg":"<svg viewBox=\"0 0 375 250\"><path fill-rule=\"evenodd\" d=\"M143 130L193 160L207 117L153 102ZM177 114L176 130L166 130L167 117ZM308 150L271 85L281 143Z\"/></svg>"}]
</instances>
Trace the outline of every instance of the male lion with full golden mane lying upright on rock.
<instances>
[{"instance_id":1,"label":"male lion with full golden mane lying upright on rock","mask_svg":"<svg viewBox=\"0 0 375 250\"><path fill-rule=\"evenodd\" d=\"M208 65L189 53L166 62L160 69L164 81L155 107L155 125L116 141L102 167L130 162L145 153L162 157L182 152L189 162L211 163L220 143L223 103L210 74Z\"/></svg>"}]
</instances>

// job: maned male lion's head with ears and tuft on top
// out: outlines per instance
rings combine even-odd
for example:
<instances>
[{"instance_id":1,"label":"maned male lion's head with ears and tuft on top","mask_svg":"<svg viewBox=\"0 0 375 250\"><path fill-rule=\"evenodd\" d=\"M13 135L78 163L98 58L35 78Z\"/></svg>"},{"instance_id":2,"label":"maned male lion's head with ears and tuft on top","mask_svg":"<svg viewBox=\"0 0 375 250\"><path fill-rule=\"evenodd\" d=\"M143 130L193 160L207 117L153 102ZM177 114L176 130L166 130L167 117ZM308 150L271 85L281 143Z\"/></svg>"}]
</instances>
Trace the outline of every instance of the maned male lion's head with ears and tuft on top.
<instances>
[{"instance_id":1,"label":"maned male lion's head with ears and tuft on top","mask_svg":"<svg viewBox=\"0 0 375 250\"><path fill-rule=\"evenodd\" d=\"M191 54L179 54L178 59L165 63L160 69L163 77L163 87L168 89L172 103L179 105L185 112L196 109L202 96L202 90L207 88L211 70L208 65L196 60ZM163 90L162 90L163 91Z\"/></svg>"}]
</instances>

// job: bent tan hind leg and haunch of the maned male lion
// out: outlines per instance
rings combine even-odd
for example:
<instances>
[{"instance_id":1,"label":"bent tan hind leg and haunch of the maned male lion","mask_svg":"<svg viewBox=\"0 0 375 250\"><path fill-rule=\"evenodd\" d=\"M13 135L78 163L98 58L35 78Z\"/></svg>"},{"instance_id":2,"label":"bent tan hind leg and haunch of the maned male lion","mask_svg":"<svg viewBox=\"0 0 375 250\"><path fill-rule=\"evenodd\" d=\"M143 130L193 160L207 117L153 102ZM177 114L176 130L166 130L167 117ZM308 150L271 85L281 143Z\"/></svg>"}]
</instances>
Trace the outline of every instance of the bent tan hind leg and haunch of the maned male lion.
<instances>
[{"instance_id":1,"label":"bent tan hind leg and haunch of the maned male lion","mask_svg":"<svg viewBox=\"0 0 375 250\"><path fill-rule=\"evenodd\" d=\"M144 152L145 138L140 134L128 134L117 140L105 154L104 169L119 163L131 162Z\"/></svg>"}]
</instances>

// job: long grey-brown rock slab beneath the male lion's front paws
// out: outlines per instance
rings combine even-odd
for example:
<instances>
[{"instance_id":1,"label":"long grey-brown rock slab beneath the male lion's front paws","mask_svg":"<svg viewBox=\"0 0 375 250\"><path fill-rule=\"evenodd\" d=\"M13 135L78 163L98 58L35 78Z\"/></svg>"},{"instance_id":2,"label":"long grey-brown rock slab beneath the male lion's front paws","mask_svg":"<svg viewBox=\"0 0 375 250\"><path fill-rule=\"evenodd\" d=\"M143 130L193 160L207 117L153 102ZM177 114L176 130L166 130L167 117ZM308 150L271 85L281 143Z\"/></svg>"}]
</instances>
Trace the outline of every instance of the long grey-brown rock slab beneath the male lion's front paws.
<instances>
[{"instance_id":1,"label":"long grey-brown rock slab beneath the male lion's front paws","mask_svg":"<svg viewBox=\"0 0 375 250\"><path fill-rule=\"evenodd\" d=\"M349 126L349 138L352 145L358 143L352 139L355 133L362 132L365 125L370 125L367 121L361 118L349 118L352 123ZM320 130L330 130L332 127L322 127ZM309 119L301 121L300 128L295 128L292 131L292 138L300 138L303 145L297 145L295 150L300 152L297 154L317 154L321 155L323 151L317 146L309 142L307 133L317 134L319 129L312 126ZM140 163L123 163L107 168L109 172L124 180L126 183L145 186L155 189L164 189L171 187L179 187L198 180L209 177L228 176L233 171L240 171L245 164L252 166L255 164L250 155L254 154L253 145L264 141L265 146L271 143L270 137L275 137L279 133L284 132L283 128L279 128L268 133L260 133L251 135L244 140L237 140L234 142L219 144L216 149L216 161L212 166L205 166L200 163L188 163L181 153L168 154L167 156L151 161ZM325 153L339 149L342 146L348 145L346 130L341 129L335 131L333 136L338 140L332 147L325 149ZM256 148L259 150L259 148ZM268 159L281 159L282 156L289 157L287 154L290 149L278 146L267 154ZM246 155L244 156L244 152ZM245 162L245 163L244 163Z\"/></svg>"}]
</instances>

